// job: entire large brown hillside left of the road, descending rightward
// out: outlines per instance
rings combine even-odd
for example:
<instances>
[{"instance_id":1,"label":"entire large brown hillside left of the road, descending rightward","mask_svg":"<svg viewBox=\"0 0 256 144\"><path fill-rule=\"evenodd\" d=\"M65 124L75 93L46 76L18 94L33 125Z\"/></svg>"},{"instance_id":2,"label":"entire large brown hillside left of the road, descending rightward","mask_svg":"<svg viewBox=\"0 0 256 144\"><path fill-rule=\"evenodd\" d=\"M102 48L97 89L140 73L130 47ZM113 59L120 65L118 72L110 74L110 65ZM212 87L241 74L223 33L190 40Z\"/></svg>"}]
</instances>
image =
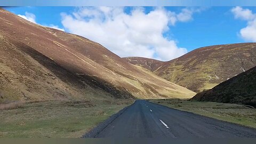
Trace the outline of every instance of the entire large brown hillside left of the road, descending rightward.
<instances>
[{"instance_id":1,"label":"entire large brown hillside left of the road, descending rightward","mask_svg":"<svg viewBox=\"0 0 256 144\"><path fill-rule=\"evenodd\" d=\"M190 90L137 68L98 43L0 9L3 99L191 98Z\"/></svg>"}]
</instances>

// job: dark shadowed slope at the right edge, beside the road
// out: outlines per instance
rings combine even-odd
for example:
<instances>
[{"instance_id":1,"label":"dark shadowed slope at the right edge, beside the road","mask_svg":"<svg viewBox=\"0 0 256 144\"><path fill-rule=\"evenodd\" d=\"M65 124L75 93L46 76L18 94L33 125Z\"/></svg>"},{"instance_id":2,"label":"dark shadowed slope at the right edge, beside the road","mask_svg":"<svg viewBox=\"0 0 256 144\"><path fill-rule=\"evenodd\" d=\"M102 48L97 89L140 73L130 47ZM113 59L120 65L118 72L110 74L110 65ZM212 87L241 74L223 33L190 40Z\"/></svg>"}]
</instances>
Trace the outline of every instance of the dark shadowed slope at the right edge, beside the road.
<instances>
[{"instance_id":1,"label":"dark shadowed slope at the right edge, beside the road","mask_svg":"<svg viewBox=\"0 0 256 144\"><path fill-rule=\"evenodd\" d=\"M256 67L228 79L191 100L239 103L256 107Z\"/></svg>"}]
</instances>

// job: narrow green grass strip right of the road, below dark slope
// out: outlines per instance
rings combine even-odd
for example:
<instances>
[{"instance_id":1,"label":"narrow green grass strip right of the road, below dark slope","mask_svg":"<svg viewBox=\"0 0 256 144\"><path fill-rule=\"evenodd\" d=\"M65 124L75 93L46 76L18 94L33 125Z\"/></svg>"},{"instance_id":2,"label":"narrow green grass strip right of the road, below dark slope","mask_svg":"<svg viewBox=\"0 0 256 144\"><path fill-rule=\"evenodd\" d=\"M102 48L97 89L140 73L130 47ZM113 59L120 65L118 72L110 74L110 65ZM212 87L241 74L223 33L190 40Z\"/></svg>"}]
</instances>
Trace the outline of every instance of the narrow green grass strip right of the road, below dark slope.
<instances>
[{"instance_id":1,"label":"narrow green grass strip right of the road, below dark slope","mask_svg":"<svg viewBox=\"0 0 256 144\"><path fill-rule=\"evenodd\" d=\"M256 109L242 105L217 102L197 102L179 99L149 100L150 102L164 105L195 114L220 119L256 128Z\"/></svg>"}]
</instances>

